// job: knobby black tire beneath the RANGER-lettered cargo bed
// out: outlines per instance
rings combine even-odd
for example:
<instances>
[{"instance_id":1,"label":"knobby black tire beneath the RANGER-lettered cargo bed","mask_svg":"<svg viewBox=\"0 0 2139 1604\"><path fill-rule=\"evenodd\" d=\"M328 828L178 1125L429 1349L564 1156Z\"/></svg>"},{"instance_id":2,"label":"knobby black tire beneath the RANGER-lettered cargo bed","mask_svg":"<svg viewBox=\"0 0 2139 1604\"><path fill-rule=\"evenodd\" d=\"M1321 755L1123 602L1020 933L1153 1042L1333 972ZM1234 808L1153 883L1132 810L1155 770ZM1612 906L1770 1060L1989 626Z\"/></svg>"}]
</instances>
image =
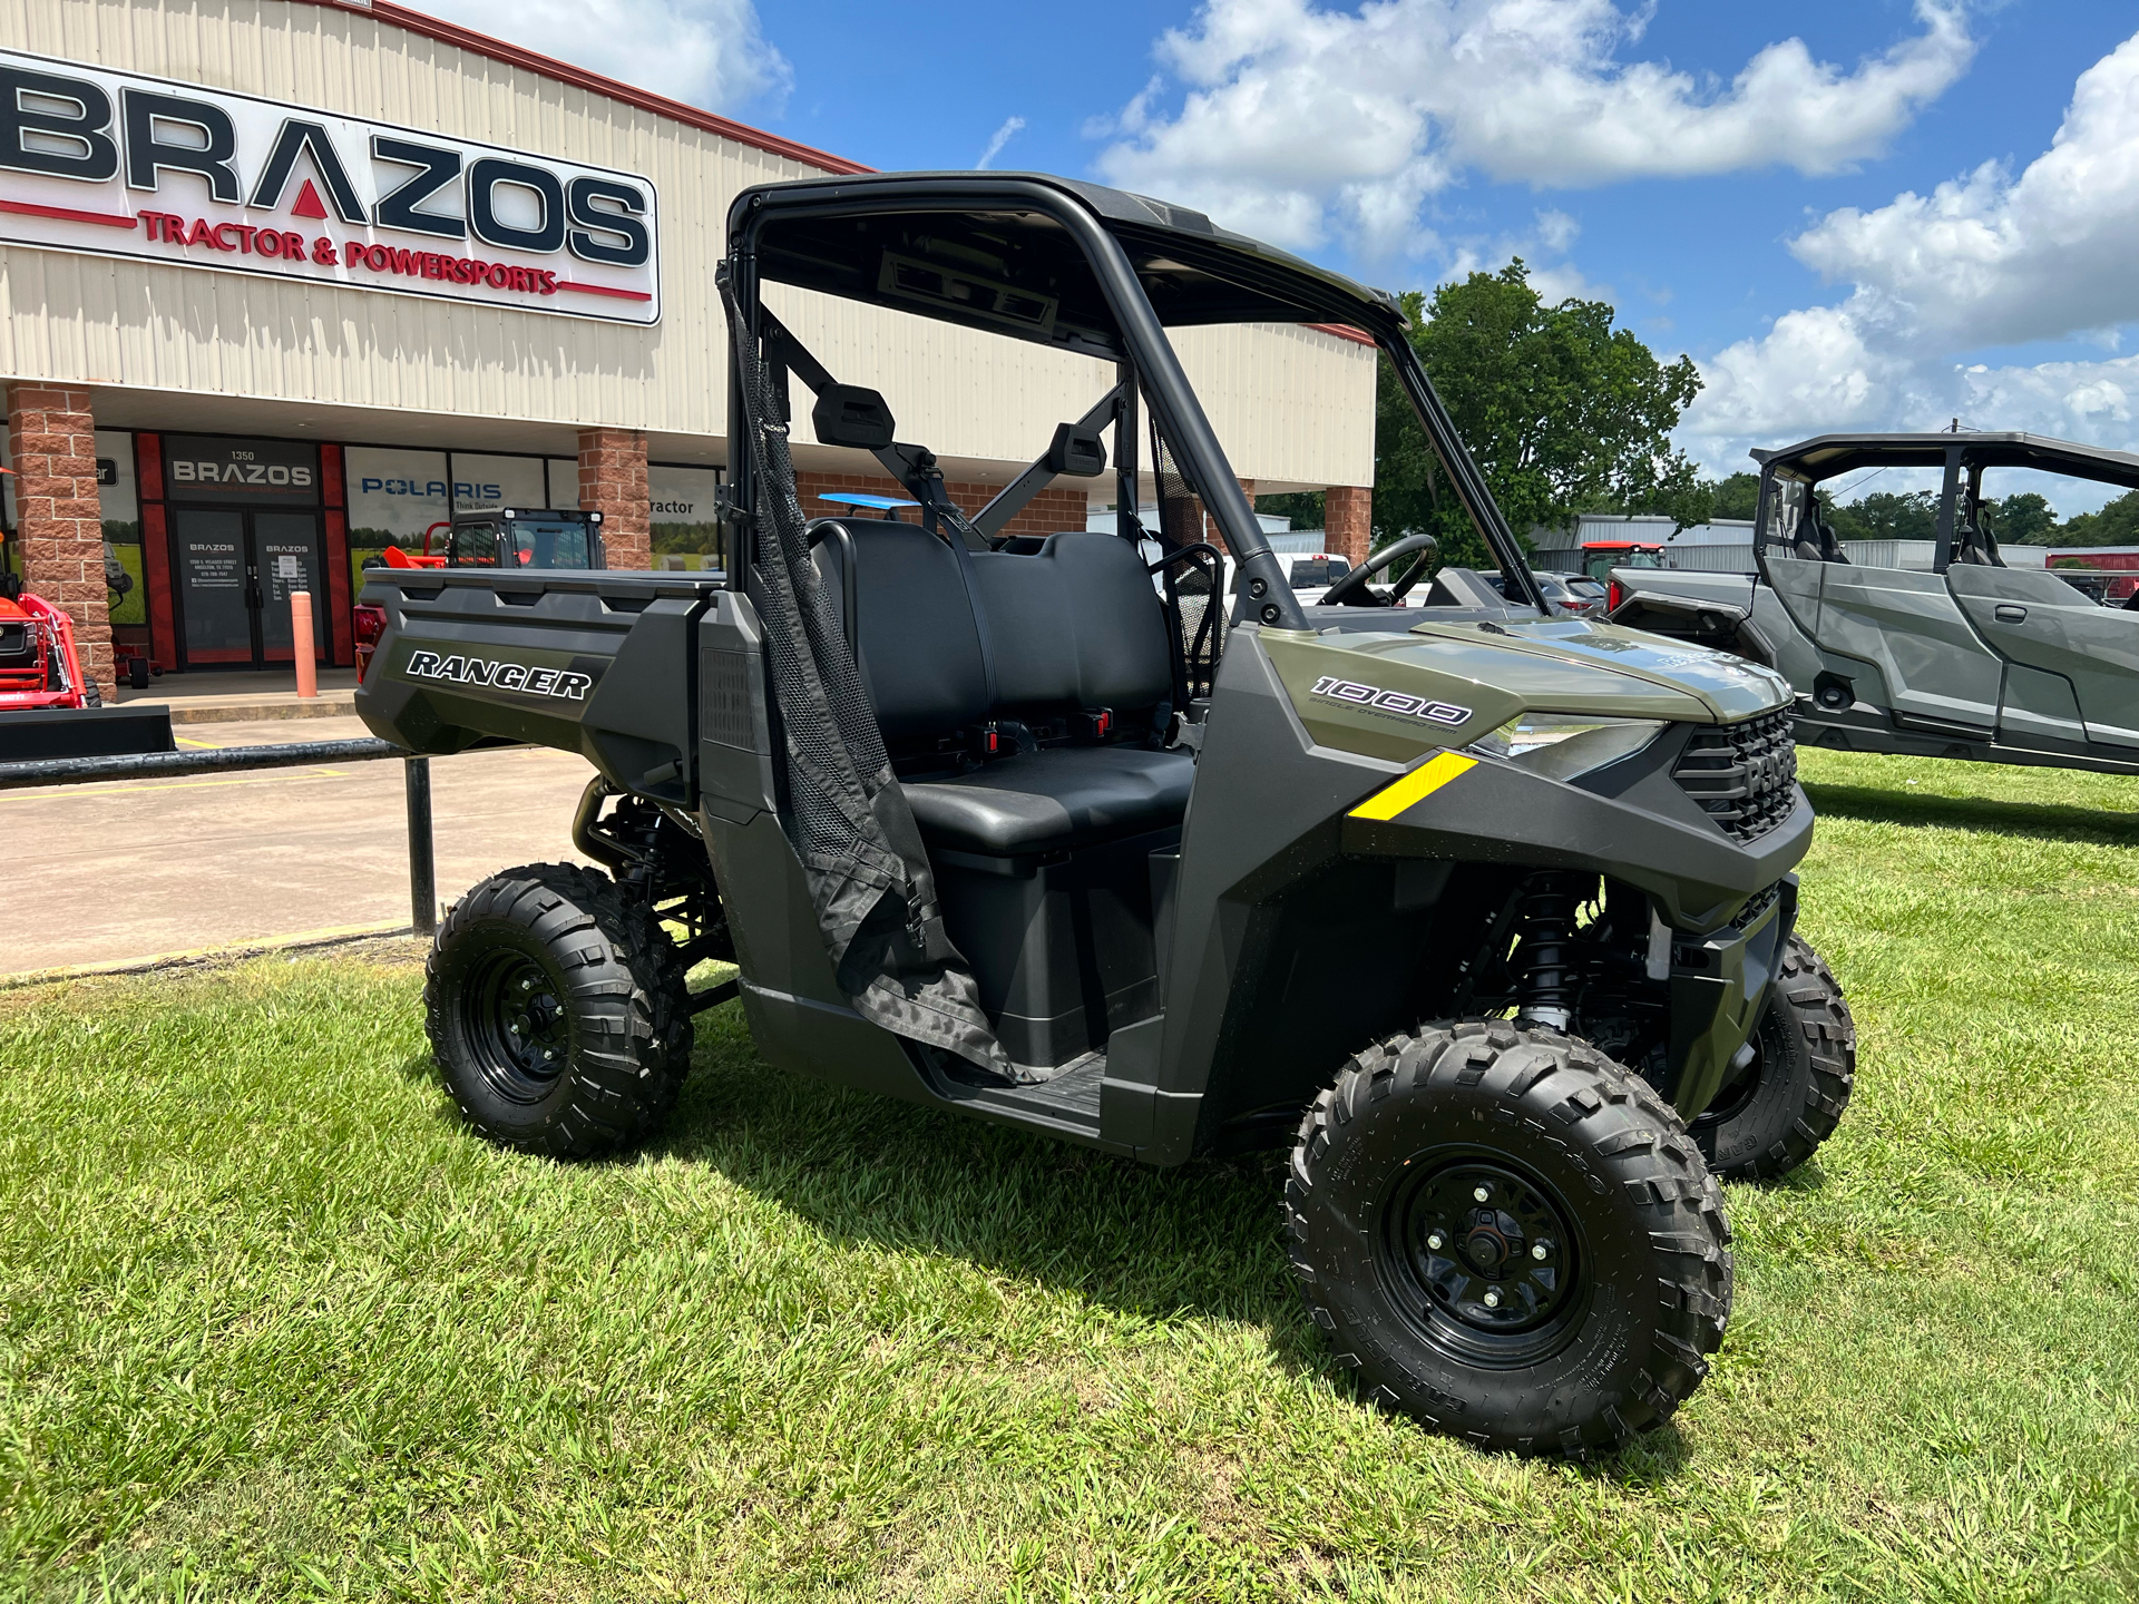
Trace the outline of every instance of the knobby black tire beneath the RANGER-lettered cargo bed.
<instances>
[{"instance_id":1,"label":"knobby black tire beneath the RANGER-lettered cargo bed","mask_svg":"<svg viewBox=\"0 0 2139 1604\"><path fill-rule=\"evenodd\" d=\"M424 1018L462 1119L584 1159L648 1136L691 1065L682 960L652 911L578 864L468 892L432 945Z\"/></svg>"}]
</instances>

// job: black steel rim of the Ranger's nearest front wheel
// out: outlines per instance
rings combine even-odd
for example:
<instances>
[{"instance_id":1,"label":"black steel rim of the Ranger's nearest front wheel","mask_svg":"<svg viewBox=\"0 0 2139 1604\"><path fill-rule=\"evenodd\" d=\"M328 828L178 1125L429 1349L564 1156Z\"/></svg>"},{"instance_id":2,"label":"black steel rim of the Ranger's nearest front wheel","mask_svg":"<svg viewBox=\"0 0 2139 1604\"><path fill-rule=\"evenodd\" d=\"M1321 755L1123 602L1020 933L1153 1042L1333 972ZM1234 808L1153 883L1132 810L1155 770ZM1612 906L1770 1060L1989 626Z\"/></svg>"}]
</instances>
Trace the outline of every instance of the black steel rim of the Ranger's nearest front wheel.
<instances>
[{"instance_id":1,"label":"black steel rim of the Ranger's nearest front wheel","mask_svg":"<svg viewBox=\"0 0 2139 1604\"><path fill-rule=\"evenodd\" d=\"M1574 1339L1589 1305L1574 1210L1499 1153L1440 1148L1405 1161L1375 1258L1403 1317L1465 1364L1536 1364Z\"/></svg>"}]
</instances>

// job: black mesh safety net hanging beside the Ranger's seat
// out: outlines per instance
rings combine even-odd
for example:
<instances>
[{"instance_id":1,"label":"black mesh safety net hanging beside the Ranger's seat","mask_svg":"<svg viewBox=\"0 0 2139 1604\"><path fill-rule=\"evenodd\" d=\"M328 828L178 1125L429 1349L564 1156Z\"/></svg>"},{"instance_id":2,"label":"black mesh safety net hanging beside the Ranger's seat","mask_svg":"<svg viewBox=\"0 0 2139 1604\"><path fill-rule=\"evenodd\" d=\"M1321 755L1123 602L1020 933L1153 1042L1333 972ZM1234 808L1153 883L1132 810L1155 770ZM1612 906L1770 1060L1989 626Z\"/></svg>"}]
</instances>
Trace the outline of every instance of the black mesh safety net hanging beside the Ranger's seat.
<instances>
[{"instance_id":1,"label":"black mesh safety net hanging beside the Ranger's seat","mask_svg":"<svg viewBox=\"0 0 2139 1604\"><path fill-rule=\"evenodd\" d=\"M781 823L802 860L838 986L883 1029L1012 1080L973 975L943 932L913 808L892 776L860 667L811 562L785 398L772 391L725 276L721 297L757 481L749 595L766 627L785 738Z\"/></svg>"}]
</instances>

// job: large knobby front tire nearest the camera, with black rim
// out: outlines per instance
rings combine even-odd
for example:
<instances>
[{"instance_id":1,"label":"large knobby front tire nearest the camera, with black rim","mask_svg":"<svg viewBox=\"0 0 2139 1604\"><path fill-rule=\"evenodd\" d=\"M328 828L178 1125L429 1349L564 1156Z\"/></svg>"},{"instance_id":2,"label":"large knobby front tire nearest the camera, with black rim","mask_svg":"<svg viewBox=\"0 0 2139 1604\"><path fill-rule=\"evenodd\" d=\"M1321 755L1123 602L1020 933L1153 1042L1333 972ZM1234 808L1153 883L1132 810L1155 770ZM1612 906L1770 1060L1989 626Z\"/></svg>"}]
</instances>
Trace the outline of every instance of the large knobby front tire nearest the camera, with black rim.
<instances>
[{"instance_id":1,"label":"large knobby front tire nearest the camera, with black rim","mask_svg":"<svg viewBox=\"0 0 2139 1604\"><path fill-rule=\"evenodd\" d=\"M1301 1123L1286 1228L1367 1397L1480 1448L1624 1446L1701 1386L1730 1317L1722 1189L1677 1114L1506 1020L1354 1057Z\"/></svg>"}]
</instances>

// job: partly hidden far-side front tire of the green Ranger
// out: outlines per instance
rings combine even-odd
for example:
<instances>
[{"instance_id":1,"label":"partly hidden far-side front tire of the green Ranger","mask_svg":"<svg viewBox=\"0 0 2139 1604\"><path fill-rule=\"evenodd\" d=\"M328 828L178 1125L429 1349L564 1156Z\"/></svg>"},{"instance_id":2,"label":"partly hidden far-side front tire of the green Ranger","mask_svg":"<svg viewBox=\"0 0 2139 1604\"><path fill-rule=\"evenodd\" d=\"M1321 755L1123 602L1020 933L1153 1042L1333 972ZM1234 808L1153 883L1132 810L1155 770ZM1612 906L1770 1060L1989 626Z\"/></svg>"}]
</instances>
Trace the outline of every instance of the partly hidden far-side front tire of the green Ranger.
<instances>
[{"instance_id":1,"label":"partly hidden far-side front tire of the green Ranger","mask_svg":"<svg viewBox=\"0 0 2139 1604\"><path fill-rule=\"evenodd\" d=\"M1835 1133L1857 1086L1857 1020L1827 960L1801 937L1752 1035L1754 1061L1692 1123L1701 1157L1724 1181L1773 1181Z\"/></svg>"}]
</instances>

